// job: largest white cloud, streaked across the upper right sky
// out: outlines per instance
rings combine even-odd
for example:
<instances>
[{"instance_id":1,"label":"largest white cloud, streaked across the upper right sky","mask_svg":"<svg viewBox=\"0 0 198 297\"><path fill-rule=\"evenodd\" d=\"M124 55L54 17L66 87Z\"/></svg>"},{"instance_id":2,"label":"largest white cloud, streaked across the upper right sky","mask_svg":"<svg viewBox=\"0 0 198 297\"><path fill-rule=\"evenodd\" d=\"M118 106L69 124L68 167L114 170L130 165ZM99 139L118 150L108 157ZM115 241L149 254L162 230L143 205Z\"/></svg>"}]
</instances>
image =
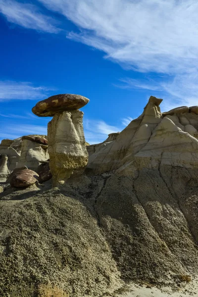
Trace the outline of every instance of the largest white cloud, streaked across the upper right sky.
<instances>
[{"instance_id":1,"label":"largest white cloud, streaked across the upper right sky","mask_svg":"<svg viewBox=\"0 0 198 297\"><path fill-rule=\"evenodd\" d=\"M127 69L159 74L157 82L122 79L119 87L167 93L164 108L198 104L197 0L40 2L79 27L67 38L104 51Z\"/></svg>"}]
</instances>

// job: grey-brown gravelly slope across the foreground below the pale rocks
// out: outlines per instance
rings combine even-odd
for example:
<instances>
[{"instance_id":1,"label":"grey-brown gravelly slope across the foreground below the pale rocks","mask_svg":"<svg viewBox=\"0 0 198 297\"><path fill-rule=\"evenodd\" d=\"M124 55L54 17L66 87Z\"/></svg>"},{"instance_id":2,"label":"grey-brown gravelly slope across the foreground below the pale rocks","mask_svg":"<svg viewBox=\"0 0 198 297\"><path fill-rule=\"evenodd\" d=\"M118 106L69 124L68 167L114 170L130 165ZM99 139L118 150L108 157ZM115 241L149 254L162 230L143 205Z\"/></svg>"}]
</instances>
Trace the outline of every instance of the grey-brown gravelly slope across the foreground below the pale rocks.
<instances>
[{"instance_id":1,"label":"grey-brown gravelly slope across the foreground below the pale rocks","mask_svg":"<svg viewBox=\"0 0 198 297\"><path fill-rule=\"evenodd\" d=\"M71 297L99 297L123 281L172 285L196 275L198 172L127 172L1 193L0 296L37 296L49 281Z\"/></svg>"}]
</instances>

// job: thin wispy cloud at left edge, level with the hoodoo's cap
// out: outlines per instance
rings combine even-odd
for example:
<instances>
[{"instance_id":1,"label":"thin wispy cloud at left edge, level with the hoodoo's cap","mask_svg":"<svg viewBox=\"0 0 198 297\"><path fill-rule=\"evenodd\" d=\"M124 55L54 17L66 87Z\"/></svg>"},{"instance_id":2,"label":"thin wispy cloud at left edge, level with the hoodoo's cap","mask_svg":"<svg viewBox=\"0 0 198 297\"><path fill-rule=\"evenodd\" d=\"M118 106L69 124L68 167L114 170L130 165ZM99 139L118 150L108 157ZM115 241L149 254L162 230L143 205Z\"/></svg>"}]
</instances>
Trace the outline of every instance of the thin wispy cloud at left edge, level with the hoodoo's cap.
<instances>
[{"instance_id":1,"label":"thin wispy cloud at left edge, level with the hoodoo's cap","mask_svg":"<svg viewBox=\"0 0 198 297\"><path fill-rule=\"evenodd\" d=\"M35 87L27 82L0 81L0 101L44 99L52 89Z\"/></svg>"}]
</instances>

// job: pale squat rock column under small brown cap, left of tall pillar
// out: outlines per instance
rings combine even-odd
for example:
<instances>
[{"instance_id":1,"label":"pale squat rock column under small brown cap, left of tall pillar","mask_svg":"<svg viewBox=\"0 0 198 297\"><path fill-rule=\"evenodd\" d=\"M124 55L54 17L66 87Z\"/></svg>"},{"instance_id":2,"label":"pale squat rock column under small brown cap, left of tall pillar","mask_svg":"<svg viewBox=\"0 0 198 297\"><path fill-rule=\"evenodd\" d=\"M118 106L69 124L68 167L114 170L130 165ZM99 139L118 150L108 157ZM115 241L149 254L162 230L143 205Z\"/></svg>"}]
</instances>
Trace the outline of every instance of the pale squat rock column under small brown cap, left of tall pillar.
<instances>
[{"instance_id":1,"label":"pale squat rock column under small brown cap, left of tall pillar","mask_svg":"<svg viewBox=\"0 0 198 297\"><path fill-rule=\"evenodd\" d=\"M17 168L27 166L31 170L37 170L42 161L47 161L48 159L48 149L44 149L42 142L23 137L21 155L16 166Z\"/></svg>"}]
</instances>

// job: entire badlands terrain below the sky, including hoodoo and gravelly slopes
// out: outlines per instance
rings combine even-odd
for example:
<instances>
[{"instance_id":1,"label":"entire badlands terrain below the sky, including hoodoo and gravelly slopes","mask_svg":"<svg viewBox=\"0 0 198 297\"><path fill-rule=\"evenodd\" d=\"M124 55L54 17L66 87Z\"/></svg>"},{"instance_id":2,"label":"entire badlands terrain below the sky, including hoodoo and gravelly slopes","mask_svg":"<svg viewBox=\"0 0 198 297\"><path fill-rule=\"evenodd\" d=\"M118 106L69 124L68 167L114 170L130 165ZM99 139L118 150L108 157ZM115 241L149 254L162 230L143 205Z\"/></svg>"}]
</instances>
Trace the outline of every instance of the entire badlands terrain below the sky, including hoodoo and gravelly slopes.
<instances>
[{"instance_id":1,"label":"entire badlands terrain below the sky, including hoodoo and gravelly slopes","mask_svg":"<svg viewBox=\"0 0 198 297\"><path fill-rule=\"evenodd\" d=\"M161 101L89 146L89 99L52 96L1 142L0 297L198 296L198 106Z\"/></svg>"}]
</instances>

